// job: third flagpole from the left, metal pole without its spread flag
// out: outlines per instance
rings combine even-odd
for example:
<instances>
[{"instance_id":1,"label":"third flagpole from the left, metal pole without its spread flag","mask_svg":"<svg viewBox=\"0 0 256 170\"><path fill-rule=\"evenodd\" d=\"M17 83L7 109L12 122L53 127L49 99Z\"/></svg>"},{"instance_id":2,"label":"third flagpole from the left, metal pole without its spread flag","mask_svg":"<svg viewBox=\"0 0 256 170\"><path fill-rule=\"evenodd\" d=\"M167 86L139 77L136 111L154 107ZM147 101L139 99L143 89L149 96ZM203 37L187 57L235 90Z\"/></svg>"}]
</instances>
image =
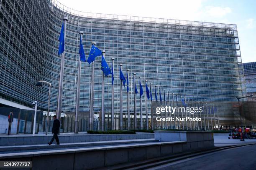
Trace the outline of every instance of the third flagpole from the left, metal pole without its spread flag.
<instances>
[{"instance_id":1,"label":"third flagpole from the left, metal pole without its spread flag","mask_svg":"<svg viewBox=\"0 0 256 170\"><path fill-rule=\"evenodd\" d=\"M92 45L96 45L96 42L92 42ZM94 98L94 61L92 62L92 76L91 76L91 95L90 95L90 130L93 130L93 98Z\"/></svg>"}]
</instances>

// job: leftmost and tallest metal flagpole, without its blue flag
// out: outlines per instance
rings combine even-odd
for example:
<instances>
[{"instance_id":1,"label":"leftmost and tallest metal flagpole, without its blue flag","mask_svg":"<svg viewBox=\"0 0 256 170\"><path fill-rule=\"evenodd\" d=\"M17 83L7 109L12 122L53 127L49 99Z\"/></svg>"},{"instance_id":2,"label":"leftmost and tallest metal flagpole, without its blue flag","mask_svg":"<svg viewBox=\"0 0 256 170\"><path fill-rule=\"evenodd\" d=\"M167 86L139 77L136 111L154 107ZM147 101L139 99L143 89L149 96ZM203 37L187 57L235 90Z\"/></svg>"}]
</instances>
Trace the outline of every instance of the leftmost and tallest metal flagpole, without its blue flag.
<instances>
[{"instance_id":1,"label":"leftmost and tallest metal flagpole, without its blue flag","mask_svg":"<svg viewBox=\"0 0 256 170\"><path fill-rule=\"evenodd\" d=\"M67 21L68 17L63 17L64 20L64 42L66 42L66 28L67 28ZM62 87L63 87L63 73L64 73L64 58L65 58L65 46L64 51L61 54L61 69L59 73L59 91L58 91L58 101L57 101L57 110L56 116L59 120L61 120L61 101L62 101Z\"/></svg>"}]
</instances>

